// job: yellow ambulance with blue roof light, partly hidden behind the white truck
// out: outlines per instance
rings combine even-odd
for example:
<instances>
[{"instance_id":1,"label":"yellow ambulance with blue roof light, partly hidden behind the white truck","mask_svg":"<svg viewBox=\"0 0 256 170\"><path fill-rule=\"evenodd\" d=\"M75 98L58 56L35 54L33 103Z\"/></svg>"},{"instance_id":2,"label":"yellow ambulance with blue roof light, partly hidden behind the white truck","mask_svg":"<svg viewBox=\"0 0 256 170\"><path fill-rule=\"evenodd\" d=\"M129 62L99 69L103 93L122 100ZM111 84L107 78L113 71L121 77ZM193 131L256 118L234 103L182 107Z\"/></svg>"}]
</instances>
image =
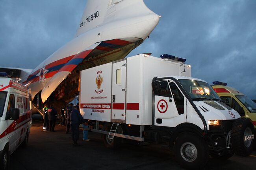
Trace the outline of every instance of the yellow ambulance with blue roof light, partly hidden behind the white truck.
<instances>
[{"instance_id":1,"label":"yellow ambulance with blue roof light, partly hidden behind the white truck","mask_svg":"<svg viewBox=\"0 0 256 170\"><path fill-rule=\"evenodd\" d=\"M256 103L249 97L236 90L226 86L226 83L215 81L211 87L219 95L221 100L236 110L241 116L250 118L256 128Z\"/></svg>"}]
</instances>

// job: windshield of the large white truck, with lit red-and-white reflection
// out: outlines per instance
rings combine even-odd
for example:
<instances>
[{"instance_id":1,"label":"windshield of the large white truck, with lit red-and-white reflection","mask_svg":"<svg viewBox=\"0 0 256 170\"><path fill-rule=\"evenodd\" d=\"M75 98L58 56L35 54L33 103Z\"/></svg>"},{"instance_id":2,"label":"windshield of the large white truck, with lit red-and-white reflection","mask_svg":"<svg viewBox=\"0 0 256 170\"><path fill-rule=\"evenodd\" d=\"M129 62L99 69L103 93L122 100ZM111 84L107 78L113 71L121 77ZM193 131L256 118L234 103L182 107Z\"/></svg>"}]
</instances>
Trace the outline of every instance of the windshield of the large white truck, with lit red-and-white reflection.
<instances>
[{"instance_id":1,"label":"windshield of the large white truck, with lit red-and-white reflection","mask_svg":"<svg viewBox=\"0 0 256 170\"><path fill-rule=\"evenodd\" d=\"M187 79L180 79L179 82L193 101L221 101L217 93L206 82Z\"/></svg>"}]
</instances>

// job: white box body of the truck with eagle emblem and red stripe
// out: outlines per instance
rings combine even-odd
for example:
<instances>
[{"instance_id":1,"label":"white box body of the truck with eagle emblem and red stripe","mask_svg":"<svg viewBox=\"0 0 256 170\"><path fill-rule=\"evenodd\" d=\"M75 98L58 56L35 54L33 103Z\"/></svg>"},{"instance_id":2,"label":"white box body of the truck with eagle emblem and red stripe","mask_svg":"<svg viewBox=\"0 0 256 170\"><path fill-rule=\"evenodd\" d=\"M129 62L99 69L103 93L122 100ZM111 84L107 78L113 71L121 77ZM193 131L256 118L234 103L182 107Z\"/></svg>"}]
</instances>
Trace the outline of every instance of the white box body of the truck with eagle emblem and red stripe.
<instances>
[{"instance_id":1,"label":"white box body of the truck with eagle emblem and red stripe","mask_svg":"<svg viewBox=\"0 0 256 170\"><path fill-rule=\"evenodd\" d=\"M167 74L190 77L191 67L141 54L83 70L80 112L89 120L151 125L152 78Z\"/></svg>"}]
</instances>

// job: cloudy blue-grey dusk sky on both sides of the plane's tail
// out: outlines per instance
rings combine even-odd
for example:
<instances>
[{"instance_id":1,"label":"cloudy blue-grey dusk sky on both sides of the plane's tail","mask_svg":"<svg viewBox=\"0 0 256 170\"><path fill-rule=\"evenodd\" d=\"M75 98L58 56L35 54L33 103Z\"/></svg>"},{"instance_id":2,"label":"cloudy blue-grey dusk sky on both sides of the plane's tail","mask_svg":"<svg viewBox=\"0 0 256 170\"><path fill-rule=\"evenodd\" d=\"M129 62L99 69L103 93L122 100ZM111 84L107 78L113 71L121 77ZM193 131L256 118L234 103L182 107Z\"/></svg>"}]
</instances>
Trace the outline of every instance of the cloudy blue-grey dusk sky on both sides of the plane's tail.
<instances>
[{"instance_id":1,"label":"cloudy blue-grey dusk sky on both sides of the plane's tail","mask_svg":"<svg viewBox=\"0 0 256 170\"><path fill-rule=\"evenodd\" d=\"M34 69L72 40L86 0L0 0L0 66ZM256 99L255 0L144 0L161 15L129 55L186 58L192 77Z\"/></svg>"}]
</instances>

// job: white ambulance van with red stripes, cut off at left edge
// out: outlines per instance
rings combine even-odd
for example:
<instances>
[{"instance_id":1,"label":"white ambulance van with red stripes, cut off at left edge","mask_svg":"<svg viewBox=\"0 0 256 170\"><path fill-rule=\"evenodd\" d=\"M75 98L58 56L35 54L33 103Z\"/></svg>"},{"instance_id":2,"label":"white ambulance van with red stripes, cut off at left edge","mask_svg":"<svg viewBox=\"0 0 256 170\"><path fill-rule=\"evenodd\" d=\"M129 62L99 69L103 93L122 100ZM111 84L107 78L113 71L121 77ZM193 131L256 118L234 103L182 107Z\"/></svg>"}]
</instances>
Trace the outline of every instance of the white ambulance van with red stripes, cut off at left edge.
<instances>
[{"instance_id":1,"label":"white ambulance van with red stripes, cut off at left edge","mask_svg":"<svg viewBox=\"0 0 256 170\"><path fill-rule=\"evenodd\" d=\"M31 95L22 84L0 72L0 169L7 170L10 155L26 146L31 127Z\"/></svg>"}]
</instances>

